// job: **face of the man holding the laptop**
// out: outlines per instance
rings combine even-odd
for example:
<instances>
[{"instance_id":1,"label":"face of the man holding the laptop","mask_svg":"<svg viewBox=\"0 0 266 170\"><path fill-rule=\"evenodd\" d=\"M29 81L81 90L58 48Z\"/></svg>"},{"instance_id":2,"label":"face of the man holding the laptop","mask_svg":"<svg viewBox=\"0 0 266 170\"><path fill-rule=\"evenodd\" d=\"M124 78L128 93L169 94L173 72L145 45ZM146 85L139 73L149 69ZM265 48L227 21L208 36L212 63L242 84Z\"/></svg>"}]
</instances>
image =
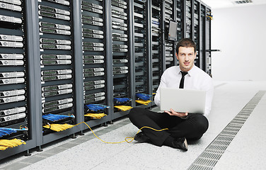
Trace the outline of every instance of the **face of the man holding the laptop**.
<instances>
[{"instance_id":1,"label":"face of the man holding the laptop","mask_svg":"<svg viewBox=\"0 0 266 170\"><path fill-rule=\"evenodd\" d=\"M179 47L178 54L175 55L179 60L181 71L188 72L194 65L197 52L194 52L194 47Z\"/></svg>"}]
</instances>

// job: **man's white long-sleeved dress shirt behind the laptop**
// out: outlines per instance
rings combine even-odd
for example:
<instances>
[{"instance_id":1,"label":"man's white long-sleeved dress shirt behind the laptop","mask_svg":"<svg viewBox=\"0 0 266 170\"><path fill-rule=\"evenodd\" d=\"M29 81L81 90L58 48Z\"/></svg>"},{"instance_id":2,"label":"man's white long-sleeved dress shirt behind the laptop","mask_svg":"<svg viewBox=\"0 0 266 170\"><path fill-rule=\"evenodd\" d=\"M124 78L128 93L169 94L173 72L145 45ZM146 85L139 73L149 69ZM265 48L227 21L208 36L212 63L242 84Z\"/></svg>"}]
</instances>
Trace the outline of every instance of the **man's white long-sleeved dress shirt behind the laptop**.
<instances>
[{"instance_id":1,"label":"man's white long-sleeved dress shirt behind the laptop","mask_svg":"<svg viewBox=\"0 0 266 170\"><path fill-rule=\"evenodd\" d=\"M154 102L157 106L160 106L160 88L170 87L179 88L180 79L182 74L180 72L179 66L173 66L166 69L161 76L161 82L156 91L156 96ZM184 89L195 89L207 91L206 104L205 104L205 116L209 115L212 108L212 97L214 94L214 85L212 82L212 77L210 77L206 72L199 67L193 65L192 69L188 71L185 75Z\"/></svg>"}]
</instances>

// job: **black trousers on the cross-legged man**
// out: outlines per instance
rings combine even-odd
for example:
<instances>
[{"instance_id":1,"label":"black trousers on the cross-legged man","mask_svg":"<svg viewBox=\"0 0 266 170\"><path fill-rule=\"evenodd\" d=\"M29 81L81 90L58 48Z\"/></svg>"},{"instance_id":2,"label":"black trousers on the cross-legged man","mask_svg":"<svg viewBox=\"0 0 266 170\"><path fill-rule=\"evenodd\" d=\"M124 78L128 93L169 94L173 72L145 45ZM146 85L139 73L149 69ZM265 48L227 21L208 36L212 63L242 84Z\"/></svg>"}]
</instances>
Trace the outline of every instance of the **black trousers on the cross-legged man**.
<instances>
[{"instance_id":1,"label":"black trousers on the cross-legged man","mask_svg":"<svg viewBox=\"0 0 266 170\"><path fill-rule=\"evenodd\" d=\"M168 128L157 132L149 128L143 128L151 142L161 147L168 136L186 137L187 140L198 140L209 127L207 118L202 114L188 114L187 119L181 119L178 116L168 115L168 113L156 113L144 108L132 108L129 112L129 120L137 128L149 126L156 130Z\"/></svg>"}]
</instances>

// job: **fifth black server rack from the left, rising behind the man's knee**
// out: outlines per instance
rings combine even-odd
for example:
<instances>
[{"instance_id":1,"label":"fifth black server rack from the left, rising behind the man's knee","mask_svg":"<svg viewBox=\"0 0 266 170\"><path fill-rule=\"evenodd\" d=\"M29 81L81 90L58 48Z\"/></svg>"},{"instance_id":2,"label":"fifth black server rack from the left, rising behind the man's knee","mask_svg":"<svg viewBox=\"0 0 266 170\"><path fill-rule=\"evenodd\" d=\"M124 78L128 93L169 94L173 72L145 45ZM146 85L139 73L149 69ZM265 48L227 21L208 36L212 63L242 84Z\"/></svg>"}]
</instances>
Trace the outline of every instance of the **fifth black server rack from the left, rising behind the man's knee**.
<instances>
[{"instance_id":1,"label":"fifth black server rack from the left, rising behind the man's knee","mask_svg":"<svg viewBox=\"0 0 266 170\"><path fill-rule=\"evenodd\" d=\"M134 58L132 62L134 64L134 93L135 94L151 94L151 54L149 36L151 20L150 13L148 11L151 6L151 1L146 0L134 0L133 4L133 36L134 36ZM133 48L132 48L133 49ZM143 106L139 103L133 103L133 106Z\"/></svg>"}]
</instances>

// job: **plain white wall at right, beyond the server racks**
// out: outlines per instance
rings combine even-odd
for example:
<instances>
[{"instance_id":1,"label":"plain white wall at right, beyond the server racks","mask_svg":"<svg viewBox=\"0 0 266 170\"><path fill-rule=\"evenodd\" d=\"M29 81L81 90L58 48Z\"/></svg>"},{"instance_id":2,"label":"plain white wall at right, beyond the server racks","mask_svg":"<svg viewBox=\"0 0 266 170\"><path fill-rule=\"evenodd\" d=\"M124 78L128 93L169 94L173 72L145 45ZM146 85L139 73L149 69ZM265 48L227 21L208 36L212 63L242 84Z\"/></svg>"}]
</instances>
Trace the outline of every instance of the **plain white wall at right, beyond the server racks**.
<instances>
[{"instance_id":1,"label":"plain white wall at right, beyond the server racks","mask_svg":"<svg viewBox=\"0 0 266 170\"><path fill-rule=\"evenodd\" d=\"M266 5L212 10L214 80L266 81Z\"/></svg>"}]
</instances>

